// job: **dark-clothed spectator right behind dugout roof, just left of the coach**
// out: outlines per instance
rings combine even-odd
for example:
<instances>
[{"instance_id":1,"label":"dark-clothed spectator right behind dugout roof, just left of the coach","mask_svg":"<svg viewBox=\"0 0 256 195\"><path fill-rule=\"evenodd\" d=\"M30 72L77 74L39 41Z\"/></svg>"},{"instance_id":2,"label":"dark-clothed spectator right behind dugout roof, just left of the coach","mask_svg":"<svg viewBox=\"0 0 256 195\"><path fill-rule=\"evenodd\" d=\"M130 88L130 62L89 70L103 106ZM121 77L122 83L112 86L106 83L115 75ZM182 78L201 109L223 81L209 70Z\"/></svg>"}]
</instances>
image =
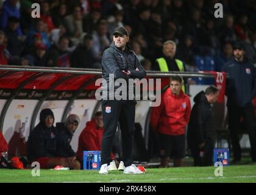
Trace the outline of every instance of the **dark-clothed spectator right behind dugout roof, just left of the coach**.
<instances>
[{"instance_id":1,"label":"dark-clothed spectator right behind dugout roof, just left of the coach","mask_svg":"<svg viewBox=\"0 0 256 195\"><path fill-rule=\"evenodd\" d=\"M77 46L71 54L71 67L73 68L99 68L94 66L96 59L93 57L93 37L87 34L84 36L84 41Z\"/></svg>"}]
</instances>

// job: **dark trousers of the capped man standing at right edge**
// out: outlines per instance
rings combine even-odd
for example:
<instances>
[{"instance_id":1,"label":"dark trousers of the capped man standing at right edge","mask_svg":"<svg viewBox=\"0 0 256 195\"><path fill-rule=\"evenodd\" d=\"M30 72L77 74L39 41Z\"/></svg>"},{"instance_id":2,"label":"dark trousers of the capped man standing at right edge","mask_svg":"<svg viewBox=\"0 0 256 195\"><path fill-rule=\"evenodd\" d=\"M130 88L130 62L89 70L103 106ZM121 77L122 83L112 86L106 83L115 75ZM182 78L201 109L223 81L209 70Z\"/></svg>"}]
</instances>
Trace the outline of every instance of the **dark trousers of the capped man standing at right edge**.
<instances>
[{"instance_id":1,"label":"dark trousers of the capped man standing at right edge","mask_svg":"<svg viewBox=\"0 0 256 195\"><path fill-rule=\"evenodd\" d=\"M249 134L249 140L251 144L251 157L252 161L256 161L256 130L254 127L254 107L228 107L229 113L229 130L230 138L233 149L233 159L241 160L241 147L239 139L239 130L240 130L240 118L243 116L244 125L246 131Z\"/></svg>"}]
</instances>

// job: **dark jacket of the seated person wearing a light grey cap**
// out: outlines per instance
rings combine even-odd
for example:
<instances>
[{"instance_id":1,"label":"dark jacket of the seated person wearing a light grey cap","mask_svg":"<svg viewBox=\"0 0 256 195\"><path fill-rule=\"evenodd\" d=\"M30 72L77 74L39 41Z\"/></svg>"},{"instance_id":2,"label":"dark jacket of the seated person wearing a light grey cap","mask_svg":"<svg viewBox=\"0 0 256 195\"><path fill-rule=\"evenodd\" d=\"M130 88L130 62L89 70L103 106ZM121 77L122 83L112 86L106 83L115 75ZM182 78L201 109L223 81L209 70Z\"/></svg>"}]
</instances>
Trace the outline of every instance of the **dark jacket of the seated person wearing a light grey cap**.
<instances>
[{"instance_id":1,"label":"dark jacket of the seated person wearing a light grey cap","mask_svg":"<svg viewBox=\"0 0 256 195\"><path fill-rule=\"evenodd\" d=\"M74 157L76 153L73 151L70 146L70 142L73 138L73 134L66 129L63 122L56 123L56 132L57 132L57 151L56 155L58 157Z\"/></svg>"}]
</instances>

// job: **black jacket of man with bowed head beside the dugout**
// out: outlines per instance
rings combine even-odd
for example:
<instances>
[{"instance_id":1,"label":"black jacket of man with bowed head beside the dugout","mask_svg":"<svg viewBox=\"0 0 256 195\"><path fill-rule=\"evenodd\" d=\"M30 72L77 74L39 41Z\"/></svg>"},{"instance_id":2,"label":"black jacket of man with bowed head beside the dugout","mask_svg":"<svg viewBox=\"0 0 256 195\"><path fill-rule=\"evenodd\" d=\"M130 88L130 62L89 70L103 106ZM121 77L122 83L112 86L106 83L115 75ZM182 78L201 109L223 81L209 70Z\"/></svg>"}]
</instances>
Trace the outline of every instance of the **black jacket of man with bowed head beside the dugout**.
<instances>
[{"instance_id":1,"label":"black jacket of man with bowed head beside the dugout","mask_svg":"<svg viewBox=\"0 0 256 195\"><path fill-rule=\"evenodd\" d=\"M205 141L215 139L214 112L204 91L196 94L194 102L190 122L188 122L188 147L198 146Z\"/></svg>"}]
</instances>

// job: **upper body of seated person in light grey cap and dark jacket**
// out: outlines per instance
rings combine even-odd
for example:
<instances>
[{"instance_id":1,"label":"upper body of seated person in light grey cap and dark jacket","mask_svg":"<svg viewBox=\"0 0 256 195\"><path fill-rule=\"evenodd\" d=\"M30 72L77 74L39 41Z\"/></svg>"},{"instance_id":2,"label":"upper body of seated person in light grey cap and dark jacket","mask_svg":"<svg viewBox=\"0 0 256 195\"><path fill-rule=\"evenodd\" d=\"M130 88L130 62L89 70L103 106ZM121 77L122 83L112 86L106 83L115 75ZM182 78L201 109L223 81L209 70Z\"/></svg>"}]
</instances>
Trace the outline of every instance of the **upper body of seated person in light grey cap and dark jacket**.
<instances>
[{"instance_id":1,"label":"upper body of seated person in light grey cap and dark jacket","mask_svg":"<svg viewBox=\"0 0 256 195\"><path fill-rule=\"evenodd\" d=\"M77 115L69 115L65 122L56 123L57 131L57 156L59 157L73 157L76 158L76 152L70 146L74 132L79 126L80 118Z\"/></svg>"}]
</instances>

